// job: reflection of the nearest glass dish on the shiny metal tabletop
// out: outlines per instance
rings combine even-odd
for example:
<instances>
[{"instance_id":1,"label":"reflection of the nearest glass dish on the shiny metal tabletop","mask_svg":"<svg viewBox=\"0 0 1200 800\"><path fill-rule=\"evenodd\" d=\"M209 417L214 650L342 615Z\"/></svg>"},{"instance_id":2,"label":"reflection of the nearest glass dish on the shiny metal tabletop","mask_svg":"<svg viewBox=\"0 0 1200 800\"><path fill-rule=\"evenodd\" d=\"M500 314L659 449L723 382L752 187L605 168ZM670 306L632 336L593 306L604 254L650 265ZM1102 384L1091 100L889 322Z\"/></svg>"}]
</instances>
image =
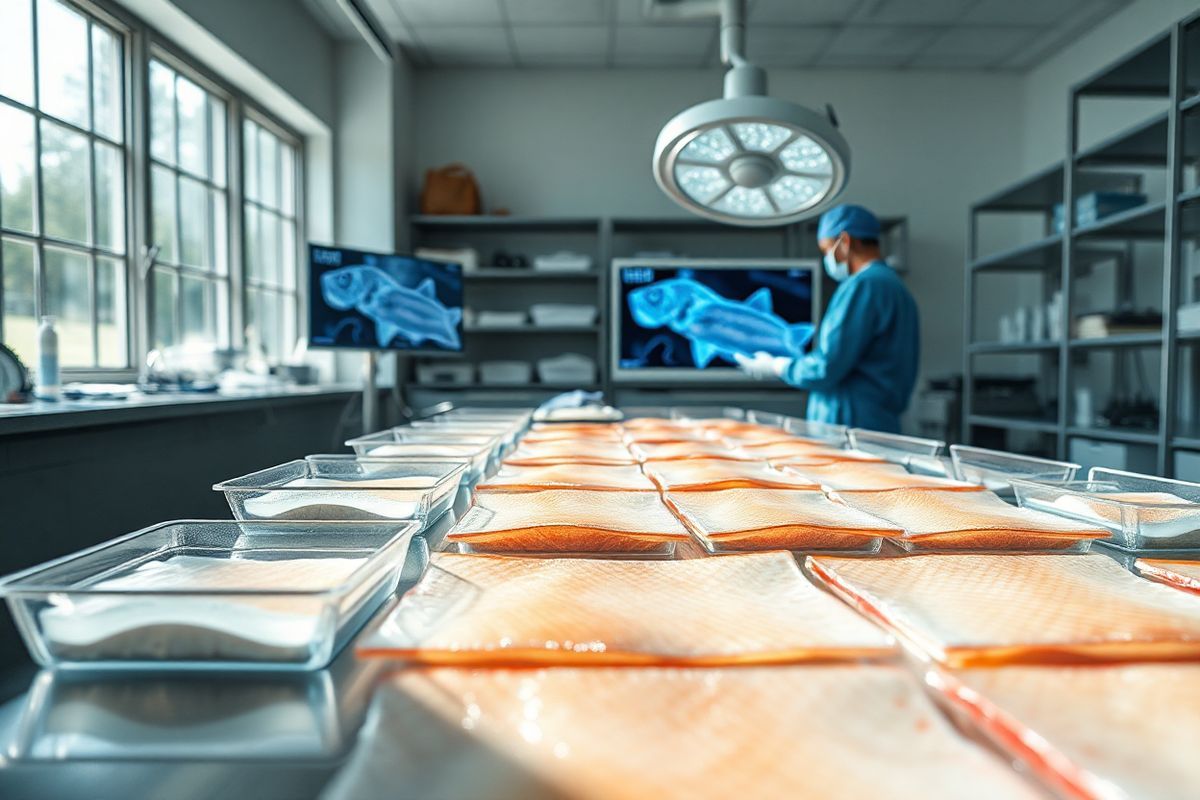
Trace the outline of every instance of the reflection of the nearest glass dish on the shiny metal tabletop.
<instances>
[{"instance_id":1,"label":"reflection of the nearest glass dish on the shiny metal tabletop","mask_svg":"<svg viewBox=\"0 0 1200 800\"><path fill-rule=\"evenodd\" d=\"M385 668L346 651L311 673L43 669L0 746L23 762L336 758Z\"/></svg>"}]
</instances>

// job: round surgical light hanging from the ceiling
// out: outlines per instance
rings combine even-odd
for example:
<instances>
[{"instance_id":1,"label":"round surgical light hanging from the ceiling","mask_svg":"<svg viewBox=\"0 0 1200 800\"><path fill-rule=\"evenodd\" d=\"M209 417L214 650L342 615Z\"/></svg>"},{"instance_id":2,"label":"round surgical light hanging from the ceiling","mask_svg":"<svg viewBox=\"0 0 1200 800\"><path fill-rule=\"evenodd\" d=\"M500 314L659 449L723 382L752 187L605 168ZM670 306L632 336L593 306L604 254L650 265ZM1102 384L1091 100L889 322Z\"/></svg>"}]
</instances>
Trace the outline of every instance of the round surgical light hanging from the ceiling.
<instances>
[{"instance_id":1,"label":"round surgical light hanging from the ceiling","mask_svg":"<svg viewBox=\"0 0 1200 800\"><path fill-rule=\"evenodd\" d=\"M830 114L767 96L767 73L745 60L745 0L721 2L725 97L680 112L654 145L654 180L702 217L782 225L833 204L850 146Z\"/></svg>"}]
</instances>

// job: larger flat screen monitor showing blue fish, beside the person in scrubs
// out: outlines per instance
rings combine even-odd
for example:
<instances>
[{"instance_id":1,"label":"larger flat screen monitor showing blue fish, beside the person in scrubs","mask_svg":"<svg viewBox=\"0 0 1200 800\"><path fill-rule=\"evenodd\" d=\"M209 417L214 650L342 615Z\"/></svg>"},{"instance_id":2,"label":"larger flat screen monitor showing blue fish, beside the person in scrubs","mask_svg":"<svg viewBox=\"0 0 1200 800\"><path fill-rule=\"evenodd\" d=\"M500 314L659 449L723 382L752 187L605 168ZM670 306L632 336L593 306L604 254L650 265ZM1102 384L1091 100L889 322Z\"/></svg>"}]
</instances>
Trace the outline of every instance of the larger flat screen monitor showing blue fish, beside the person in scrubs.
<instances>
[{"instance_id":1,"label":"larger flat screen monitor showing blue fish, beside the person in scrubs","mask_svg":"<svg viewBox=\"0 0 1200 800\"><path fill-rule=\"evenodd\" d=\"M734 354L800 355L820 291L815 260L613 259L613 378L749 380Z\"/></svg>"}]
</instances>

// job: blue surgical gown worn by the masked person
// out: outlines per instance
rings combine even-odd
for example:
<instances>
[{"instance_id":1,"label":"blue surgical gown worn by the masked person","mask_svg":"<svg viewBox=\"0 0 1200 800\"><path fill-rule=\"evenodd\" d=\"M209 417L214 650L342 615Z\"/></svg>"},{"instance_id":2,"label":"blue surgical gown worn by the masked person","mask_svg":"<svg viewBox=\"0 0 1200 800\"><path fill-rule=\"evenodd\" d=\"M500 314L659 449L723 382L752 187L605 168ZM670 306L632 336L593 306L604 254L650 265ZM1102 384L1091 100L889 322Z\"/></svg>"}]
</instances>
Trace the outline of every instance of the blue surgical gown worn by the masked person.
<instances>
[{"instance_id":1,"label":"blue surgical gown worn by the masked person","mask_svg":"<svg viewBox=\"0 0 1200 800\"><path fill-rule=\"evenodd\" d=\"M784 380L809 390L812 422L899 433L919 353L917 302L895 270L872 261L838 285L812 351Z\"/></svg>"}]
</instances>

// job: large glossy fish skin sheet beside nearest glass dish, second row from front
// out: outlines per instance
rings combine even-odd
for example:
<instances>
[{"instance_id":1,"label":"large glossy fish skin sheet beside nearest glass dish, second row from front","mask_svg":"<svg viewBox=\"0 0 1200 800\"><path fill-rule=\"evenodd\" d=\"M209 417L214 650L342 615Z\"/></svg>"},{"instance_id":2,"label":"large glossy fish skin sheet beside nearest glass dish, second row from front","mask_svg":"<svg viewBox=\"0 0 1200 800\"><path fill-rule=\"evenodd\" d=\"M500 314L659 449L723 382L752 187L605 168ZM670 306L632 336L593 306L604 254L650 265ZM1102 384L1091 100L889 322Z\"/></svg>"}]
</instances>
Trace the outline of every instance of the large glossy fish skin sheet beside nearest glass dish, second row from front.
<instances>
[{"instance_id":1,"label":"large glossy fish skin sheet beside nearest glass dish, second row from front","mask_svg":"<svg viewBox=\"0 0 1200 800\"><path fill-rule=\"evenodd\" d=\"M895 654L883 631L812 585L790 553L686 561L436 553L431 563L440 572L401 599L360 655L440 666L737 666ZM412 614L427 607L422 584L445 576L478 594L410 634Z\"/></svg>"}]
</instances>

